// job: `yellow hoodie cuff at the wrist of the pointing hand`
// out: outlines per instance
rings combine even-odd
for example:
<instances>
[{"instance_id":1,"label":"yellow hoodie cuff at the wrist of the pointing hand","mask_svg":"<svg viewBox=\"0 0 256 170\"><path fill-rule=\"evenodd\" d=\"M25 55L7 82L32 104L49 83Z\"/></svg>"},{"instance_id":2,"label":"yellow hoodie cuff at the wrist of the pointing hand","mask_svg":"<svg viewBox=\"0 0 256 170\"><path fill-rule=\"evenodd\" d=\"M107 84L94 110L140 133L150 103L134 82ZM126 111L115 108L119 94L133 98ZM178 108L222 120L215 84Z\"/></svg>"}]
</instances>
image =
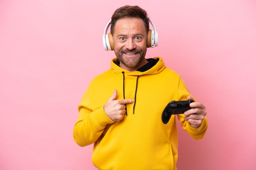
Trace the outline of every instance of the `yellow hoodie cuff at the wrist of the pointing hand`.
<instances>
[{"instance_id":1,"label":"yellow hoodie cuff at the wrist of the pointing hand","mask_svg":"<svg viewBox=\"0 0 256 170\"><path fill-rule=\"evenodd\" d=\"M104 105L100 107L99 109L93 111L90 115L92 122L100 127L105 128L107 124L112 124L114 121L112 121L105 113L104 111Z\"/></svg>"}]
</instances>

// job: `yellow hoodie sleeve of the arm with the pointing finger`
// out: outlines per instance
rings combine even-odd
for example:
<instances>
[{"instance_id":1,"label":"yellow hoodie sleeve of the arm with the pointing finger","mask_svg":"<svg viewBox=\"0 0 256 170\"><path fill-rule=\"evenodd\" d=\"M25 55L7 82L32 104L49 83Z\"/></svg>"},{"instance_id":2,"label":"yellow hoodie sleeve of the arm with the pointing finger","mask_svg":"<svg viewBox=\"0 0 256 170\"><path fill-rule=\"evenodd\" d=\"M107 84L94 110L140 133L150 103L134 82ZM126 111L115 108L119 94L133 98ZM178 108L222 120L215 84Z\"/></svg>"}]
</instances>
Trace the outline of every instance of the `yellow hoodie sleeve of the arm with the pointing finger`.
<instances>
[{"instance_id":1,"label":"yellow hoodie sleeve of the arm with the pointing finger","mask_svg":"<svg viewBox=\"0 0 256 170\"><path fill-rule=\"evenodd\" d=\"M90 86L85 91L79 104L79 116L74 126L74 141L79 146L93 144L99 139L107 124L114 123L105 113L104 105L92 110Z\"/></svg>"}]
</instances>

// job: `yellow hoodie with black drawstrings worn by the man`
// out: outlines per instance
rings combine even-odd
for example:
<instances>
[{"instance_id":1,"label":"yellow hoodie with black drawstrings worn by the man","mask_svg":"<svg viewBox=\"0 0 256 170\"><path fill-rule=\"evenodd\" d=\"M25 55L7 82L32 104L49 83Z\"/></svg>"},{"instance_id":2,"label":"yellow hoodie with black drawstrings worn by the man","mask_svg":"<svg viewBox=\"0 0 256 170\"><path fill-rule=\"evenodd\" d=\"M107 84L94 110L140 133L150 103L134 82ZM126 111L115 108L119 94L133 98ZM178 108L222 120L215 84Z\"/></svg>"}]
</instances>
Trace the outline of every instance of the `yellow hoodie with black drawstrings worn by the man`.
<instances>
[{"instance_id":1,"label":"yellow hoodie with black drawstrings worn by the man","mask_svg":"<svg viewBox=\"0 0 256 170\"><path fill-rule=\"evenodd\" d=\"M171 100L187 100L189 94L180 76L166 68L160 57L144 72L129 72L111 61L110 70L95 77L80 104L74 126L79 146L94 143L92 162L100 170L176 170L178 136L175 115L162 123L162 111ZM127 116L113 122L103 106L117 89L117 99L135 99L126 104ZM136 98L135 98L136 94ZM135 106L134 106L135 105ZM134 113L133 113L134 109ZM177 115L183 129L194 139L207 130L205 118L198 129Z\"/></svg>"}]
</instances>

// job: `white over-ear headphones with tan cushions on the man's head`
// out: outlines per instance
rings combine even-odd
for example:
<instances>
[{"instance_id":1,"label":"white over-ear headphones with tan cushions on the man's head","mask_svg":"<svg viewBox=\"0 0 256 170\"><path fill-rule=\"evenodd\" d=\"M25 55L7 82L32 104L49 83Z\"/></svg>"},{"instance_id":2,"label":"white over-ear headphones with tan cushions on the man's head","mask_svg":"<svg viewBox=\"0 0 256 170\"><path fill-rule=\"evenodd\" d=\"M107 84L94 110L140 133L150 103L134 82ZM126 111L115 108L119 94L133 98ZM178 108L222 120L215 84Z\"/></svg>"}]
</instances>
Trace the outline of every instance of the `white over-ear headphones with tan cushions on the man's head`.
<instances>
[{"instance_id":1,"label":"white over-ear headphones with tan cushions on the man's head","mask_svg":"<svg viewBox=\"0 0 256 170\"><path fill-rule=\"evenodd\" d=\"M105 27L104 34L102 37L103 40L103 46L106 51L114 50L114 41L113 36L111 33L107 34L108 28L110 26L111 20L108 22L108 24ZM156 47L158 45L158 33L155 28L155 24L149 19L150 24L153 26L154 30L148 30L148 37L147 37L147 48L149 47Z\"/></svg>"}]
</instances>

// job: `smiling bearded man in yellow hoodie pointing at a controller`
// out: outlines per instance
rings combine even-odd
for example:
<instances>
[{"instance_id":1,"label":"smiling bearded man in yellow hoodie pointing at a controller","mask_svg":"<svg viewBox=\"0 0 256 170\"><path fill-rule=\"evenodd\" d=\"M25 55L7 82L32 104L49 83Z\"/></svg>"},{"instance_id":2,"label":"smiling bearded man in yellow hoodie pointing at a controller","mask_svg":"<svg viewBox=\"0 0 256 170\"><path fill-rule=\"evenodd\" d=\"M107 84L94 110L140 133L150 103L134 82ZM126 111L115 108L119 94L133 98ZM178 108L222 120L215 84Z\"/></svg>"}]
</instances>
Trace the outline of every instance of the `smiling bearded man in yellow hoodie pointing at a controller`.
<instances>
[{"instance_id":1,"label":"smiling bearded man in yellow hoodie pointing at a controller","mask_svg":"<svg viewBox=\"0 0 256 170\"><path fill-rule=\"evenodd\" d=\"M100 170L177 169L175 116L163 124L161 115L171 100L193 98L160 57L145 59L148 29L143 9L115 11L111 34L117 58L92 80L79 105L74 140L79 146L94 143L92 162ZM177 118L193 138L202 139L205 107L199 102L190 106Z\"/></svg>"}]
</instances>

